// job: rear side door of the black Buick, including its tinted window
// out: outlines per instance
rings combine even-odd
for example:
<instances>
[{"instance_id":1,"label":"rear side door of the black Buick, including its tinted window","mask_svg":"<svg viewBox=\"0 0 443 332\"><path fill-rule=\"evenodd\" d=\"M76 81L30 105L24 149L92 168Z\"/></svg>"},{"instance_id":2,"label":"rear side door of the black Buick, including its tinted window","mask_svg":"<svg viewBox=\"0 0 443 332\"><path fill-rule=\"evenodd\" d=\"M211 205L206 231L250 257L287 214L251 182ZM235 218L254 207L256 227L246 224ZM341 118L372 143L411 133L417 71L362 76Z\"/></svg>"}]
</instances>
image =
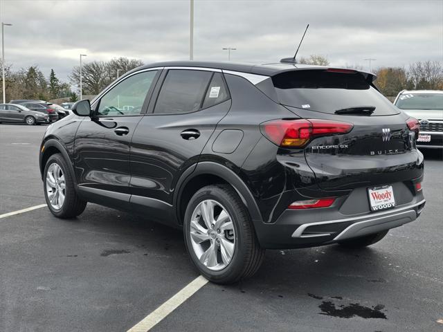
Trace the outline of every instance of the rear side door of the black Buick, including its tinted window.
<instances>
[{"instance_id":1,"label":"rear side door of the black Buick, including its tinted window","mask_svg":"<svg viewBox=\"0 0 443 332\"><path fill-rule=\"evenodd\" d=\"M152 208L152 217L168 219L175 185L228 113L230 97L219 71L170 69L158 84L156 100L132 138L131 192L134 209ZM158 213L156 213L158 212Z\"/></svg>"}]
</instances>

